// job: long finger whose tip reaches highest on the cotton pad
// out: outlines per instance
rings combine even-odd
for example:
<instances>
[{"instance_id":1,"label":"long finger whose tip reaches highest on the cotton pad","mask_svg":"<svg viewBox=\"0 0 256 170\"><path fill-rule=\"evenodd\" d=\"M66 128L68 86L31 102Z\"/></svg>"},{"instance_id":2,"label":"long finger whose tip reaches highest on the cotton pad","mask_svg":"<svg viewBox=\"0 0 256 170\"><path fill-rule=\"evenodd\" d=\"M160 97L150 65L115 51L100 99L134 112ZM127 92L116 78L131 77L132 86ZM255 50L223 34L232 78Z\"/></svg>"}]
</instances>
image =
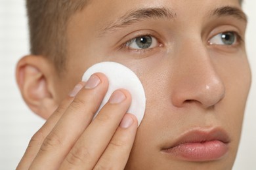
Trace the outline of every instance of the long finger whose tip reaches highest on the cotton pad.
<instances>
[{"instance_id":1,"label":"long finger whose tip reaches highest on the cotton pad","mask_svg":"<svg viewBox=\"0 0 256 170\"><path fill-rule=\"evenodd\" d=\"M37 169L42 162L44 169L58 169L75 141L91 123L107 89L108 79L102 73L96 73L89 78L85 88L79 91L46 137L32 163L32 169Z\"/></svg>"}]
</instances>

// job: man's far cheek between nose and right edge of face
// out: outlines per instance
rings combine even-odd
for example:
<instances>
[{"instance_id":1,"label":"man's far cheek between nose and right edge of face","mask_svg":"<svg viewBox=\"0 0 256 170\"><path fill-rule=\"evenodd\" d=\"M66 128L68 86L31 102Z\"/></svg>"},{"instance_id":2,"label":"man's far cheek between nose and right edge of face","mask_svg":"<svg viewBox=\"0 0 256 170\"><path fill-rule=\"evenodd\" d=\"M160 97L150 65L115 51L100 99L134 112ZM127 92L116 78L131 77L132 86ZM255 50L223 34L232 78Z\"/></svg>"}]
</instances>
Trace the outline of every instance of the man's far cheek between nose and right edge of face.
<instances>
[{"instance_id":1,"label":"man's far cheek between nose and right edge of face","mask_svg":"<svg viewBox=\"0 0 256 170\"><path fill-rule=\"evenodd\" d=\"M223 122L232 141L232 154L235 156L244 119L247 95L251 85L251 70L246 56L234 56L229 61L215 63L224 82L226 93L223 101L217 105L216 112ZM217 66L219 65L219 66Z\"/></svg>"}]
</instances>

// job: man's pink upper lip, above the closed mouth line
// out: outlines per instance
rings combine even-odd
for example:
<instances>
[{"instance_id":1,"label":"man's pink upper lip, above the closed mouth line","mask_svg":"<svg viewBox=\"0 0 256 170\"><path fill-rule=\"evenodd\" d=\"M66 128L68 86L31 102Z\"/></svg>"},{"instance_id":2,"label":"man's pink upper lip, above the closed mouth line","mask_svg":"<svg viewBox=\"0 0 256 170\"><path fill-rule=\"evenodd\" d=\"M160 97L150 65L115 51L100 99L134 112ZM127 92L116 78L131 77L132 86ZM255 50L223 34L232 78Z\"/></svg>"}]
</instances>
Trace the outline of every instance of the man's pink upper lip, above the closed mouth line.
<instances>
[{"instance_id":1,"label":"man's pink upper lip, above the closed mouth line","mask_svg":"<svg viewBox=\"0 0 256 170\"><path fill-rule=\"evenodd\" d=\"M174 148L185 143L205 143L207 141L221 141L225 144L230 142L226 131L221 128L192 129L181 135L174 143L166 144L163 150Z\"/></svg>"}]
</instances>

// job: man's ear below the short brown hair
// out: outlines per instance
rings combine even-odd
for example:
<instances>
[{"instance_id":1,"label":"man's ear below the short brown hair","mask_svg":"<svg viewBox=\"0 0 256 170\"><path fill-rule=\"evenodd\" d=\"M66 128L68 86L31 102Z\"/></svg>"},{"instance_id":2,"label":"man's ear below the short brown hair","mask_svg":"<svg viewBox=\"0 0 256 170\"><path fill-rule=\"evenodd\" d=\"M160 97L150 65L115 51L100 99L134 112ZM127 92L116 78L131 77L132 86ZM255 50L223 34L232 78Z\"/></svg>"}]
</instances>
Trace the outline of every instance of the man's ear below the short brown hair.
<instances>
[{"instance_id":1,"label":"man's ear below the short brown hair","mask_svg":"<svg viewBox=\"0 0 256 170\"><path fill-rule=\"evenodd\" d=\"M24 101L45 119L58 107L54 97L54 73L53 64L42 56L25 56L16 66L16 82Z\"/></svg>"}]
</instances>

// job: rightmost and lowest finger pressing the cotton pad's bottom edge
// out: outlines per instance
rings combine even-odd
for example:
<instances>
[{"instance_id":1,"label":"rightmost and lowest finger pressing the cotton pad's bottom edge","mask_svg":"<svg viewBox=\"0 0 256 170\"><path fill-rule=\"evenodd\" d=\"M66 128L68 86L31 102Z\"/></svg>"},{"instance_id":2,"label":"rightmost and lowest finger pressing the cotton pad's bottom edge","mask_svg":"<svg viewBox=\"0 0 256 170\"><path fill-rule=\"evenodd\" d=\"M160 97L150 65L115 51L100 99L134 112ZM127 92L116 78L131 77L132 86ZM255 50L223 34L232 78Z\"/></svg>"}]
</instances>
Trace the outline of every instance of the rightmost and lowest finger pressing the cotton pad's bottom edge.
<instances>
[{"instance_id":1,"label":"rightmost and lowest finger pressing the cotton pad's bottom edge","mask_svg":"<svg viewBox=\"0 0 256 170\"><path fill-rule=\"evenodd\" d=\"M137 118L133 114L125 114L94 169L124 169L135 140L137 127Z\"/></svg>"}]
</instances>

